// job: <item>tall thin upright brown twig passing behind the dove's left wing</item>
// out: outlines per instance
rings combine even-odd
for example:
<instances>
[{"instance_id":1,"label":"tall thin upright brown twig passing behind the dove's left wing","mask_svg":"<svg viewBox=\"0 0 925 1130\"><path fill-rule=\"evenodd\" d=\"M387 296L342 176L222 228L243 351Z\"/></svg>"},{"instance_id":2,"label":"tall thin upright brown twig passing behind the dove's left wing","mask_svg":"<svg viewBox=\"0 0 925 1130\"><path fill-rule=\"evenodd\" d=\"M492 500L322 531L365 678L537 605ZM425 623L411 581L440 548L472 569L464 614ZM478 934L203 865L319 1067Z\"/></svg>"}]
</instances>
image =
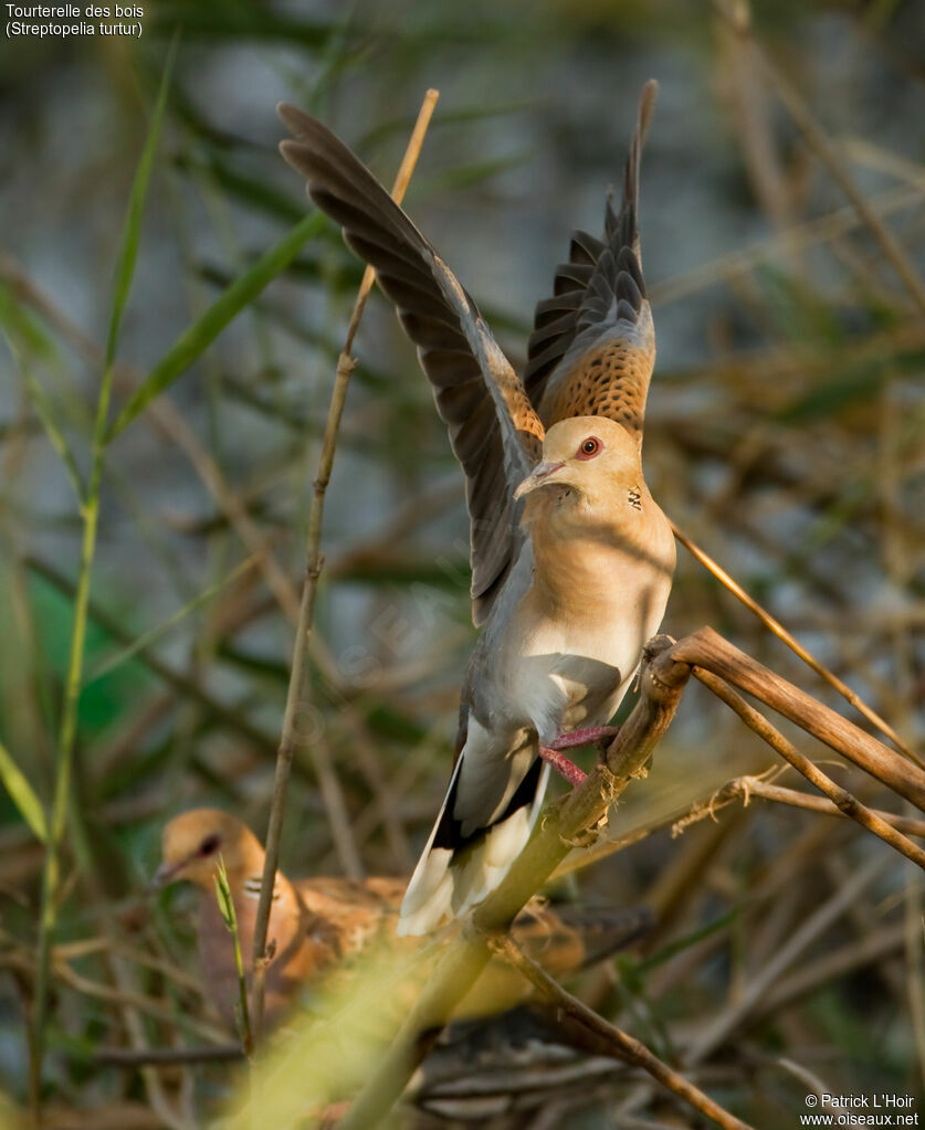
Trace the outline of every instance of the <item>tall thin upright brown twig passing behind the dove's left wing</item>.
<instances>
[{"instance_id":1,"label":"tall thin upright brown twig passing behind the dove's left wing","mask_svg":"<svg viewBox=\"0 0 925 1130\"><path fill-rule=\"evenodd\" d=\"M401 162L398 176L395 181L392 195L400 201L405 194L408 181L417 162L421 146L424 141L427 125L436 104L436 90L429 90L424 97L424 103L417 118L417 122L408 144L405 159ZM292 671L289 675L288 693L286 695L286 711L283 718L283 732L279 741L279 750L276 758L276 779L274 782L273 801L270 803L270 818L266 837L266 859L263 863L263 879L260 890L260 902L257 907L257 920L253 929L253 1028L259 1040L263 1023L263 980L266 975L267 954L267 929L269 927L270 905L274 878L279 862L279 841L283 834L283 819L286 808L286 793L288 790L289 771L295 748L299 745L300 713L305 702L306 675L308 675L308 645L311 633L312 619L314 616L314 601L318 593L318 579L321 574L321 520L325 513L325 494L334 466L334 455L337 447L337 433L340 427L340 417L344 412L344 402L347 395L347 385L351 373L355 366L351 357L353 340L360 325L366 297L372 288L374 272L368 267L363 272L363 281L360 285L360 293L354 304L351 315L349 327L344 351L337 363L337 374L335 376L334 390L331 392L328 419L325 425L325 436L321 442L321 454L318 460L318 475L314 480L314 493L309 513L308 529L308 551L305 582L302 588L302 599L299 606L299 621L295 632L295 644L293 647Z\"/></svg>"}]
</instances>

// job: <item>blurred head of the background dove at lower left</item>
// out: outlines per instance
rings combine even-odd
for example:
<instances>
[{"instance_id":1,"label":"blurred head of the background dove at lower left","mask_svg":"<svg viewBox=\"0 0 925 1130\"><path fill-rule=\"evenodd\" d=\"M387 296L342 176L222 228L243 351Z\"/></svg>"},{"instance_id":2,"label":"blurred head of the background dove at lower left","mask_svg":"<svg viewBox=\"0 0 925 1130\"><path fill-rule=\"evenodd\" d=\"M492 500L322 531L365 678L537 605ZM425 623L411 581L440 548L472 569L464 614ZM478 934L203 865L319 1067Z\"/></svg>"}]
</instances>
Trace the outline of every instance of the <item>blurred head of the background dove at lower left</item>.
<instances>
[{"instance_id":1,"label":"blurred head of the background dove at lower left","mask_svg":"<svg viewBox=\"0 0 925 1130\"><path fill-rule=\"evenodd\" d=\"M228 812L193 808L175 816L162 833L162 863L152 886L189 879L211 890L219 855L230 877L260 875L263 868L263 849L257 836Z\"/></svg>"}]
</instances>

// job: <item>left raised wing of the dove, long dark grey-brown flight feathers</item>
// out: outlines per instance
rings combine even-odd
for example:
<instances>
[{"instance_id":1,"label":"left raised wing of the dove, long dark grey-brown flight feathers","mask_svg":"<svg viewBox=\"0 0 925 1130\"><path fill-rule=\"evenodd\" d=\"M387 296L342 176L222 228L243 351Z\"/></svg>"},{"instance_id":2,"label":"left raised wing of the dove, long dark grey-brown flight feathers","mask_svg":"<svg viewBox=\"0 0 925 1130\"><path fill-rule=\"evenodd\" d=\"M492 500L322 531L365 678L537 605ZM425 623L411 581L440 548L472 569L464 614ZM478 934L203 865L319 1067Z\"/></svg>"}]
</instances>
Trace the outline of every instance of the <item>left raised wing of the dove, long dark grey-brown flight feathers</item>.
<instances>
[{"instance_id":1,"label":"left raised wing of the dove, long dark grey-brown flight feathers","mask_svg":"<svg viewBox=\"0 0 925 1130\"><path fill-rule=\"evenodd\" d=\"M466 472L478 624L510 560L511 495L539 459L543 425L475 303L373 174L314 118L287 105L278 112L294 134L283 156L374 268L433 385Z\"/></svg>"}]
</instances>

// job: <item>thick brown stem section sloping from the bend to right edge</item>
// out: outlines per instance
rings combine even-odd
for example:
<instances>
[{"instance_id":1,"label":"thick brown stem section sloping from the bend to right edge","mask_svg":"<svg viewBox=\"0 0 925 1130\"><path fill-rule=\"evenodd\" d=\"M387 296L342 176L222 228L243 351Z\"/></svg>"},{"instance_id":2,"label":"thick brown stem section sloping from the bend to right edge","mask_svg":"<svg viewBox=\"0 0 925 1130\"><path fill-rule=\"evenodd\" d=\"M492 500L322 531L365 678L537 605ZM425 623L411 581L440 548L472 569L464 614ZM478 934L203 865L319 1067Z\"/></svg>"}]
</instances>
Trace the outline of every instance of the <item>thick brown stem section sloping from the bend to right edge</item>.
<instances>
[{"instance_id":1,"label":"thick brown stem section sloping from the bend to right edge","mask_svg":"<svg viewBox=\"0 0 925 1130\"><path fill-rule=\"evenodd\" d=\"M672 654L678 662L706 668L753 695L925 811L925 771L740 651L712 628L686 636Z\"/></svg>"}]
</instances>

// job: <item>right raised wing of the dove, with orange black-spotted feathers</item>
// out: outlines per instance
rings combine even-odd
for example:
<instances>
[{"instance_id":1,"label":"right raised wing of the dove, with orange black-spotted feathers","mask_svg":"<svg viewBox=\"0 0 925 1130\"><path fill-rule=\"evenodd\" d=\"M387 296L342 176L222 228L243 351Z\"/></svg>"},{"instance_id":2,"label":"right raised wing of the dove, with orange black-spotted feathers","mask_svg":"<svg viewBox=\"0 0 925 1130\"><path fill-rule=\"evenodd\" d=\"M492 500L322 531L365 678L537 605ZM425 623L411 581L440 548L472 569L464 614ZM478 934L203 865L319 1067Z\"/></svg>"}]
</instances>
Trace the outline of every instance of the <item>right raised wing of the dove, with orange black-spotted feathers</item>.
<instances>
[{"instance_id":1,"label":"right raised wing of the dove, with orange black-spotted feathers","mask_svg":"<svg viewBox=\"0 0 925 1130\"><path fill-rule=\"evenodd\" d=\"M641 440L655 329L639 253L639 158L657 90L654 79L642 88L620 212L608 200L603 242L572 235L553 297L536 307L524 385L546 427L608 416Z\"/></svg>"}]
</instances>

